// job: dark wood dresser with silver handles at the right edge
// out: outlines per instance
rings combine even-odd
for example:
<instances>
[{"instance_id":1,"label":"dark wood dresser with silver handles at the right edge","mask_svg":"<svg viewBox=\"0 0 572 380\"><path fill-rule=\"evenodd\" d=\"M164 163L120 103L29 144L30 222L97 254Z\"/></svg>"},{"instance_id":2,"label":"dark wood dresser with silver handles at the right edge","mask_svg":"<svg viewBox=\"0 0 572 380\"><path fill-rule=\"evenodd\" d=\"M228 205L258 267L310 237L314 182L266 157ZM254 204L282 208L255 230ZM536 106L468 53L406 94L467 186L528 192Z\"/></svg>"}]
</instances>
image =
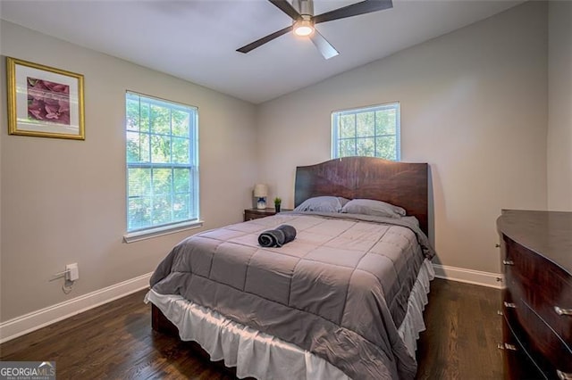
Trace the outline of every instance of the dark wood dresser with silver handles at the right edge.
<instances>
[{"instance_id":1,"label":"dark wood dresser with silver handles at the right edge","mask_svg":"<svg viewBox=\"0 0 572 380\"><path fill-rule=\"evenodd\" d=\"M572 212L503 210L505 378L572 379Z\"/></svg>"}]
</instances>

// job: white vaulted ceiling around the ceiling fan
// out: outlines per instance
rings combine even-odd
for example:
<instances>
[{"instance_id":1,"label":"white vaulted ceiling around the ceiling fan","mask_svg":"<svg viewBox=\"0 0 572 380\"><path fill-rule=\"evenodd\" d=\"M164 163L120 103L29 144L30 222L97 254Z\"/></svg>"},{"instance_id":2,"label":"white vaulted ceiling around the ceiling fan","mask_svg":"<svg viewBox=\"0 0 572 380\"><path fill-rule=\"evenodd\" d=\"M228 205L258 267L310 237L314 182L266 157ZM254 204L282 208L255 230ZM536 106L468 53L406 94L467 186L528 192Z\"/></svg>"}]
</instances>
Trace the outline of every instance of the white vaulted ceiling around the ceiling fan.
<instances>
[{"instance_id":1,"label":"white vaulted ceiling around the ceiling fan","mask_svg":"<svg viewBox=\"0 0 572 380\"><path fill-rule=\"evenodd\" d=\"M357 0L315 0L315 14ZM290 25L266 0L0 0L0 17L71 43L262 103L522 1L393 0L393 8L317 25L340 55L324 60L291 33L235 50Z\"/></svg>"}]
</instances>

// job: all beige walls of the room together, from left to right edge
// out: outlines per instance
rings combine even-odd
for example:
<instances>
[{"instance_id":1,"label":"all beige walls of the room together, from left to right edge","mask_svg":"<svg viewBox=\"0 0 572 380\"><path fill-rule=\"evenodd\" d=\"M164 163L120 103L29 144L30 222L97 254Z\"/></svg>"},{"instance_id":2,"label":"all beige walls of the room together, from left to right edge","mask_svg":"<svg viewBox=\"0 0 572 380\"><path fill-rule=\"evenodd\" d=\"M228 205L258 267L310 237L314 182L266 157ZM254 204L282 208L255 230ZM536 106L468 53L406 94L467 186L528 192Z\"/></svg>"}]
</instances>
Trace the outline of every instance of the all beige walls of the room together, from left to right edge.
<instances>
[{"instance_id":1,"label":"all beige walls of the room together, from left to right edge","mask_svg":"<svg viewBox=\"0 0 572 380\"><path fill-rule=\"evenodd\" d=\"M127 89L198 106L204 228L239 221L257 181L291 207L294 167L330 158L332 111L399 101L402 160L432 169L438 262L499 272L502 208L570 210L569 28L569 3L527 3L255 107L0 21L0 71L7 55L85 75L87 128L8 136L0 75L0 320L148 273L198 232L122 243ZM64 295L48 280L71 262Z\"/></svg>"}]
</instances>

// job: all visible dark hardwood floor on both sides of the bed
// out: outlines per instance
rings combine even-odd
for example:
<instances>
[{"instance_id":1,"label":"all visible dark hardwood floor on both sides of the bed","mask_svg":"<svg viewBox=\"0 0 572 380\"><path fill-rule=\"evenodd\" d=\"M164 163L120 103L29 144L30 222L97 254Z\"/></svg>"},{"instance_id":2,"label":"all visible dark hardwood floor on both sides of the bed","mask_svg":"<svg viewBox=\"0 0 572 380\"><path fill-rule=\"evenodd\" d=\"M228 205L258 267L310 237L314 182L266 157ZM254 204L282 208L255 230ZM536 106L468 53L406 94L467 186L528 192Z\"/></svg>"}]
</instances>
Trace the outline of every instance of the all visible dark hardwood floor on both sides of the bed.
<instances>
[{"instance_id":1,"label":"all visible dark hardwood floor on both sides of the bed","mask_svg":"<svg viewBox=\"0 0 572 380\"><path fill-rule=\"evenodd\" d=\"M151 330L145 291L0 345L1 360L56 362L58 379L232 379L231 370ZM435 279L418 379L501 379L501 291Z\"/></svg>"}]
</instances>

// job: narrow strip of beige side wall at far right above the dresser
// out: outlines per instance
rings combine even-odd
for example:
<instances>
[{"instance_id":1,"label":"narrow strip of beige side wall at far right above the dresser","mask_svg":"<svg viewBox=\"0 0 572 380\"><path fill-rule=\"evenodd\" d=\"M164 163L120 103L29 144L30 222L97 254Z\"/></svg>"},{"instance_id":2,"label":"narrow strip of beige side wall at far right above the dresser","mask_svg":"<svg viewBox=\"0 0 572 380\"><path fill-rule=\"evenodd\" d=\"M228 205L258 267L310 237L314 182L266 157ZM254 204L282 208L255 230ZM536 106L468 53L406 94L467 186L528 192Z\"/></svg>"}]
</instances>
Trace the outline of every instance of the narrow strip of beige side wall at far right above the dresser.
<instances>
[{"instance_id":1,"label":"narrow strip of beige side wall at far right above the dresser","mask_svg":"<svg viewBox=\"0 0 572 380\"><path fill-rule=\"evenodd\" d=\"M572 211L572 2L549 4L548 208Z\"/></svg>"}]
</instances>

